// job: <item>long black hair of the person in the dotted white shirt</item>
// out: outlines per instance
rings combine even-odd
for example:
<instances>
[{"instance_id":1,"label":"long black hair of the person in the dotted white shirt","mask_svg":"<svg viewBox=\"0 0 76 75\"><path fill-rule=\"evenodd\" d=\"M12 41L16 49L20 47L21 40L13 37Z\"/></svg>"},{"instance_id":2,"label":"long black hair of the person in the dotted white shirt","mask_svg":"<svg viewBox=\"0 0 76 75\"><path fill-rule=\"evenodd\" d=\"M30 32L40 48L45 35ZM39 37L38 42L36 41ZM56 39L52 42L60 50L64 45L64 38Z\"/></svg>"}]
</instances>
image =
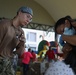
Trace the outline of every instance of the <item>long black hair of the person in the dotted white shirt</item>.
<instances>
[{"instance_id":1,"label":"long black hair of the person in the dotted white shirt","mask_svg":"<svg viewBox=\"0 0 76 75\"><path fill-rule=\"evenodd\" d=\"M72 50L67 54L64 62L73 69L76 74L76 47L72 46Z\"/></svg>"}]
</instances>

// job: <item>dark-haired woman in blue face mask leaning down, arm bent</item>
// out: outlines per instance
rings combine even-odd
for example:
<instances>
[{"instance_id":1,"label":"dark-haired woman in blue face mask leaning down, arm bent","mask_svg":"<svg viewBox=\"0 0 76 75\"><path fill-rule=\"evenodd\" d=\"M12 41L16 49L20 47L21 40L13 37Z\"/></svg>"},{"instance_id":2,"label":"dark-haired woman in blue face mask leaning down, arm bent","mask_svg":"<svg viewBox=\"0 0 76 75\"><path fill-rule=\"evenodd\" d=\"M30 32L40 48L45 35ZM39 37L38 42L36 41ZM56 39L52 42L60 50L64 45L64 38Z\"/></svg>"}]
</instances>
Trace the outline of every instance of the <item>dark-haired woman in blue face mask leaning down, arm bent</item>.
<instances>
[{"instance_id":1,"label":"dark-haired woman in blue face mask leaning down, arm bent","mask_svg":"<svg viewBox=\"0 0 76 75\"><path fill-rule=\"evenodd\" d=\"M61 34L63 41L76 46L76 21L67 17L60 18L54 29L56 34Z\"/></svg>"}]
</instances>

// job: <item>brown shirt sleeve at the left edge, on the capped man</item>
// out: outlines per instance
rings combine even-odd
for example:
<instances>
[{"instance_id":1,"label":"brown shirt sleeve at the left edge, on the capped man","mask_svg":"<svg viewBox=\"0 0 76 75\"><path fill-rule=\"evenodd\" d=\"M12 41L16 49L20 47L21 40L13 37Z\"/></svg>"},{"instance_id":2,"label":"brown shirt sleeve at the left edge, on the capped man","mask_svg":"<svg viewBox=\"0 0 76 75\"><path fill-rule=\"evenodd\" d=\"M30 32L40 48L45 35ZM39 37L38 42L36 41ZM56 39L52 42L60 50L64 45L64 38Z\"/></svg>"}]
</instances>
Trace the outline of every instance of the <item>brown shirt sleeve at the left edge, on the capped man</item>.
<instances>
[{"instance_id":1,"label":"brown shirt sleeve at the left edge, on the capped man","mask_svg":"<svg viewBox=\"0 0 76 75\"><path fill-rule=\"evenodd\" d=\"M11 40L9 35L9 26L7 26L6 23L0 22L0 50L5 48Z\"/></svg>"}]
</instances>

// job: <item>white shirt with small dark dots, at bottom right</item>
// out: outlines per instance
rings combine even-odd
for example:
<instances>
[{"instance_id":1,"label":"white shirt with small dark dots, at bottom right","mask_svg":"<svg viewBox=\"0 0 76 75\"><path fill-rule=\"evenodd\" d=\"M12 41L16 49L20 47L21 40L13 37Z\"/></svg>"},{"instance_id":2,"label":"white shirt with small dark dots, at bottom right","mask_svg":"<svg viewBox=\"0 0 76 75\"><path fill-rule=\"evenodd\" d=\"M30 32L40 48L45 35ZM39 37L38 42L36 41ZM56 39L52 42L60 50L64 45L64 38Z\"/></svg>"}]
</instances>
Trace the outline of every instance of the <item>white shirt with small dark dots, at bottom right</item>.
<instances>
[{"instance_id":1,"label":"white shirt with small dark dots, at bottom right","mask_svg":"<svg viewBox=\"0 0 76 75\"><path fill-rule=\"evenodd\" d=\"M50 64L45 75L75 75L70 65L66 65L63 61L57 61Z\"/></svg>"}]
</instances>

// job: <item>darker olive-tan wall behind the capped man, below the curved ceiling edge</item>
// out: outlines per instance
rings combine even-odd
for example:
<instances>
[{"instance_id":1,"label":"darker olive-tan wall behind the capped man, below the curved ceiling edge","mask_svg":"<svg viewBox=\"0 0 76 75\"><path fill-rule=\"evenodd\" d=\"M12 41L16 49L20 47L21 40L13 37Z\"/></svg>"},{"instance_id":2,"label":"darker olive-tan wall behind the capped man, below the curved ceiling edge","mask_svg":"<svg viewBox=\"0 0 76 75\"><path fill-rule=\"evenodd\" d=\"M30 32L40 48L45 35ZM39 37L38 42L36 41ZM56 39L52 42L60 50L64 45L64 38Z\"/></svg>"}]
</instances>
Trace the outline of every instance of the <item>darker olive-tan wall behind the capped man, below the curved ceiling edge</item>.
<instances>
[{"instance_id":1,"label":"darker olive-tan wall behind the capped man, below the curved ceiling edge","mask_svg":"<svg viewBox=\"0 0 76 75\"><path fill-rule=\"evenodd\" d=\"M33 0L0 0L0 17L13 18L21 6L29 6L33 9L33 22L46 25L55 23L48 12Z\"/></svg>"}]
</instances>

